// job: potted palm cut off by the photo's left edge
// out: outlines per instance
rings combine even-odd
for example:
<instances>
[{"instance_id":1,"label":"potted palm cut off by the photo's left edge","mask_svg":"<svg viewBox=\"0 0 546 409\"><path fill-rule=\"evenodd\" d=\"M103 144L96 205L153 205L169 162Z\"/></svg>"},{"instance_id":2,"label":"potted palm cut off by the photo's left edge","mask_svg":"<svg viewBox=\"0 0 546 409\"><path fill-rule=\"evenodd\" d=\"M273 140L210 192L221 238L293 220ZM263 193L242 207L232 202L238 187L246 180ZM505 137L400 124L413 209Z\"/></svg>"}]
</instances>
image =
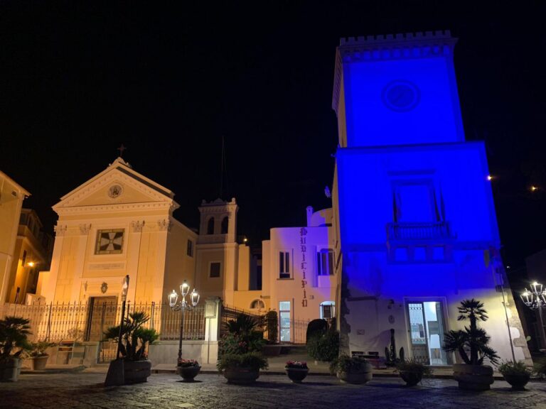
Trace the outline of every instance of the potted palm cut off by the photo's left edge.
<instances>
[{"instance_id":1,"label":"potted palm cut off by the photo's left edge","mask_svg":"<svg viewBox=\"0 0 546 409\"><path fill-rule=\"evenodd\" d=\"M15 382L21 373L21 356L31 349L29 322L11 316L0 320L0 382Z\"/></svg>"}]
</instances>

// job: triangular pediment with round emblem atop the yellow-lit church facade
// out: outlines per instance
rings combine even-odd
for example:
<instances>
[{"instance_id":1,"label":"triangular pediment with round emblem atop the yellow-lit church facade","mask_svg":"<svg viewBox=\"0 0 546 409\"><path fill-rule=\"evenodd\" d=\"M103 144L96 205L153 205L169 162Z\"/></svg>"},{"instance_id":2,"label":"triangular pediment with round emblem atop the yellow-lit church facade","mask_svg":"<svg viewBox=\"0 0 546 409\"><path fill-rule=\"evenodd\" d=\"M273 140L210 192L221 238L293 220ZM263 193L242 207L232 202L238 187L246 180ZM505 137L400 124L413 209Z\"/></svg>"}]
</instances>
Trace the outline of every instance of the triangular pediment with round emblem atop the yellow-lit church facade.
<instances>
[{"instance_id":1,"label":"triangular pediment with round emblem atop the yellow-lit church facade","mask_svg":"<svg viewBox=\"0 0 546 409\"><path fill-rule=\"evenodd\" d=\"M144 203L164 203L178 207L173 197L171 190L137 173L122 158L117 158L94 178L61 197L53 209L58 212L69 207Z\"/></svg>"}]
</instances>

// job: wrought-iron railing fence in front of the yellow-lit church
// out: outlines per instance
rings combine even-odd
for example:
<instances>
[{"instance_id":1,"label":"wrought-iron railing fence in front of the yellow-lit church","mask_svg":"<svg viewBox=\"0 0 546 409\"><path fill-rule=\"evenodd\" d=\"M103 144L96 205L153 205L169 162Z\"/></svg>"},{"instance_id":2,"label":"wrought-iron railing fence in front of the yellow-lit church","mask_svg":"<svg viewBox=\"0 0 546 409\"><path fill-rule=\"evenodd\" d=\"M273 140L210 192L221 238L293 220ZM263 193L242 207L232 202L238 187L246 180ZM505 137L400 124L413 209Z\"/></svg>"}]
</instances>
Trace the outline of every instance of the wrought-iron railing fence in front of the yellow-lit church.
<instances>
[{"instance_id":1,"label":"wrought-iron railing fence in front of the yellow-lit church","mask_svg":"<svg viewBox=\"0 0 546 409\"><path fill-rule=\"evenodd\" d=\"M179 338L181 312L171 310L168 304L127 302L127 316L135 311L144 311L150 317L144 327L156 329L159 339ZM6 315L27 318L31 322L31 339L49 342L104 341L104 332L108 327L119 325L121 314L122 306L114 302L0 305L0 318ZM205 307L186 310L183 339L205 339Z\"/></svg>"}]
</instances>

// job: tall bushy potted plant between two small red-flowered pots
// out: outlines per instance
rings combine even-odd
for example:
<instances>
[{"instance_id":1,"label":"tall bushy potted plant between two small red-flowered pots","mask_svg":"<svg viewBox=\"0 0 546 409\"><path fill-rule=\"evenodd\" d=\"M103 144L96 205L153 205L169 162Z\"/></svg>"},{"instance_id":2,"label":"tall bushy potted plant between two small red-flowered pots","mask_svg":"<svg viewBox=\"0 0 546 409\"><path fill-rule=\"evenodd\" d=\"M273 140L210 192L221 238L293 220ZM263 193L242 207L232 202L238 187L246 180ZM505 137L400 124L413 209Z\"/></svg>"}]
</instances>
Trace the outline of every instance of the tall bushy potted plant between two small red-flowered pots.
<instances>
[{"instance_id":1,"label":"tall bushy potted plant between two small red-flowered pots","mask_svg":"<svg viewBox=\"0 0 546 409\"><path fill-rule=\"evenodd\" d=\"M264 344L263 333L257 331L257 322L248 315L238 315L226 324L228 334L220 341L218 371L228 383L253 383L259 370L267 368L260 350Z\"/></svg>"}]
</instances>

